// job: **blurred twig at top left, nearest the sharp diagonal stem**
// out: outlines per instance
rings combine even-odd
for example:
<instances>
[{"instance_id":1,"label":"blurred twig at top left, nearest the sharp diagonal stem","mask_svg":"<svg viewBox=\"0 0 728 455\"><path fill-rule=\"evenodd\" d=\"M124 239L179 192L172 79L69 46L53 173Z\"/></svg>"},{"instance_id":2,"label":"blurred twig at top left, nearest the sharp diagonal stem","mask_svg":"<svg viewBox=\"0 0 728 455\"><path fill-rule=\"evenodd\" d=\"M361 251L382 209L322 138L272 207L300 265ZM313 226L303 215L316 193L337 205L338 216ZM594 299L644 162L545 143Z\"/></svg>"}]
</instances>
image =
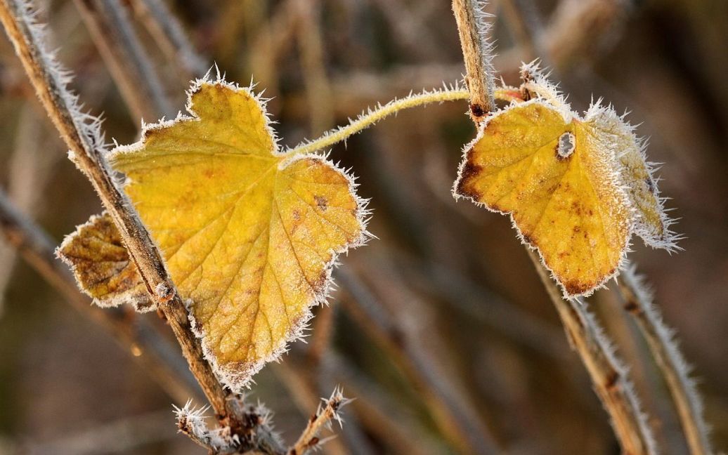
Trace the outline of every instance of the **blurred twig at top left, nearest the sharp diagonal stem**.
<instances>
[{"instance_id":1,"label":"blurred twig at top left, nearest the sharp diagonal stem","mask_svg":"<svg viewBox=\"0 0 728 455\"><path fill-rule=\"evenodd\" d=\"M75 0L98 50L135 119L174 114L154 65L118 0Z\"/></svg>"}]
</instances>

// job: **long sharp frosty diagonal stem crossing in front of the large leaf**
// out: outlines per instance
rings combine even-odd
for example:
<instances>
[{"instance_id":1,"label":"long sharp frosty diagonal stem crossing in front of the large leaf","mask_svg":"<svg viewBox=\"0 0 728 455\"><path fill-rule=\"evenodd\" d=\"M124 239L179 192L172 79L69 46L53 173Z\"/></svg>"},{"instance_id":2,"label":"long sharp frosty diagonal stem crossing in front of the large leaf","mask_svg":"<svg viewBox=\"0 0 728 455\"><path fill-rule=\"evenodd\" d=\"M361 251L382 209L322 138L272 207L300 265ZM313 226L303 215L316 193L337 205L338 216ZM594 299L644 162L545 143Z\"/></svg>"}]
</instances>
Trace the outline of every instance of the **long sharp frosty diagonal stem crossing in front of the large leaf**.
<instances>
[{"instance_id":1,"label":"long sharp frosty diagonal stem crossing in front of the large leaf","mask_svg":"<svg viewBox=\"0 0 728 455\"><path fill-rule=\"evenodd\" d=\"M191 331L187 310L167 274L159 250L108 171L98 120L84 116L79 111L76 98L66 90L58 64L44 52L38 29L31 30L31 27L38 27L28 22L33 20L32 15L33 11L25 1L0 0L0 21L38 98L61 138L71 149L71 159L87 176L114 219L151 298L167 318L192 373L210 400L218 419L237 431L244 423L237 419L229 407L229 398L233 394L223 389L215 378L210 364L205 360L199 339Z\"/></svg>"}]
</instances>

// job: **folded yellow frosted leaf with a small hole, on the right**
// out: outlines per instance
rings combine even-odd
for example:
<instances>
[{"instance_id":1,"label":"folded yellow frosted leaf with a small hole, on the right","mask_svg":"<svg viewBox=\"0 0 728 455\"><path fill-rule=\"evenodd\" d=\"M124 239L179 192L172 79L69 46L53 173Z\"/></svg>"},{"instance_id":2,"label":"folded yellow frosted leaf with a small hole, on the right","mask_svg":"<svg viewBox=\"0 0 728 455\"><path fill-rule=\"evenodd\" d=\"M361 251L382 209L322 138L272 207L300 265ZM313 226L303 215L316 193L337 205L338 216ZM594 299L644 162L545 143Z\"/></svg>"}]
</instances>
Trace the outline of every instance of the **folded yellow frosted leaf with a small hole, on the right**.
<instances>
[{"instance_id":1,"label":"folded yellow frosted leaf with a small hole, on the right","mask_svg":"<svg viewBox=\"0 0 728 455\"><path fill-rule=\"evenodd\" d=\"M612 108L581 118L552 97L496 112L466 147L454 194L510 213L568 297L617 274L633 232L674 248L641 147Z\"/></svg>"}]
</instances>

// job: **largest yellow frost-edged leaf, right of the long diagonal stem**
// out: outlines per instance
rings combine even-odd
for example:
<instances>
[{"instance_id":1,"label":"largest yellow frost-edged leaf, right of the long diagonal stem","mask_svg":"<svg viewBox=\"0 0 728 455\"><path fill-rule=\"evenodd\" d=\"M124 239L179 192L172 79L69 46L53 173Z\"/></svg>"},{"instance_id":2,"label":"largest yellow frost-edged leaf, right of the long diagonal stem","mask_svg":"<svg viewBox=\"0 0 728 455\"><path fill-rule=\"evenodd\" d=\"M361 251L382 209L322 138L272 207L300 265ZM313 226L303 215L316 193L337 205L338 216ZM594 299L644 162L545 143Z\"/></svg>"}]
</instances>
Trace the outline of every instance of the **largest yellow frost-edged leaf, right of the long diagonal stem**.
<instances>
[{"instance_id":1,"label":"largest yellow frost-edged leaf, right of the long diagonal stem","mask_svg":"<svg viewBox=\"0 0 728 455\"><path fill-rule=\"evenodd\" d=\"M111 164L159 245L195 330L233 389L296 339L325 301L336 256L365 238L344 171L277 149L250 90L200 81L188 110L147 126Z\"/></svg>"}]
</instances>

